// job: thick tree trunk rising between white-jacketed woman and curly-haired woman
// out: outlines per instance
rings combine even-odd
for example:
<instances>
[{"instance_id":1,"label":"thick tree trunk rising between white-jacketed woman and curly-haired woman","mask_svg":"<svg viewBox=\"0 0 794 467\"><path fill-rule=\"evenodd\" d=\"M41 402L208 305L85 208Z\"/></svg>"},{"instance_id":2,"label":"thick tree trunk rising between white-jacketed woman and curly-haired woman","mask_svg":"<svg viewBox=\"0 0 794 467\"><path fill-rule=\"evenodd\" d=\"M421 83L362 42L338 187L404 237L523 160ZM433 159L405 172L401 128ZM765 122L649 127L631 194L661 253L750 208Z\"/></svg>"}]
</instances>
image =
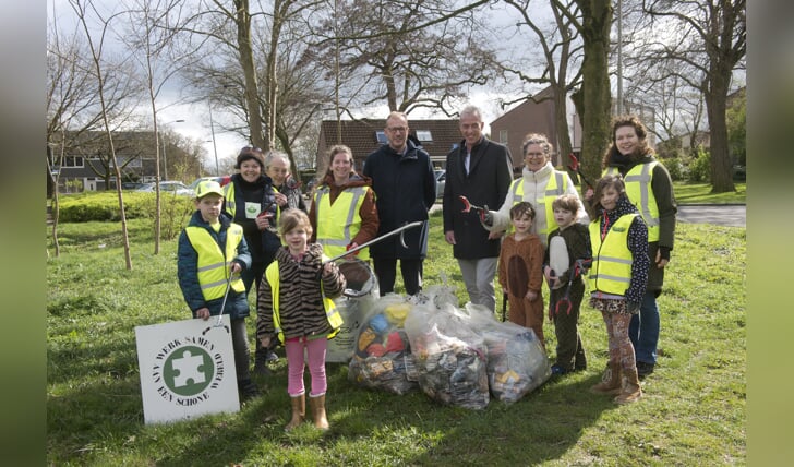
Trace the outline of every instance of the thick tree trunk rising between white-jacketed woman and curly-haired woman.
<instances>
[{"instance_id":1,"label":"thick tree trunk rising between white-jacketed woman and curly-haired woman","mask_svg":"<svg viewBox=\"0 0 794 467\"><path fill-rule=\"evenodd\" d=\"M577 0L582 13L584 60L581 104L581 170L594 181L601 178L601 159L610 135L610 28L612 3L609 0Z\"/></svg>"}]
</instances>

